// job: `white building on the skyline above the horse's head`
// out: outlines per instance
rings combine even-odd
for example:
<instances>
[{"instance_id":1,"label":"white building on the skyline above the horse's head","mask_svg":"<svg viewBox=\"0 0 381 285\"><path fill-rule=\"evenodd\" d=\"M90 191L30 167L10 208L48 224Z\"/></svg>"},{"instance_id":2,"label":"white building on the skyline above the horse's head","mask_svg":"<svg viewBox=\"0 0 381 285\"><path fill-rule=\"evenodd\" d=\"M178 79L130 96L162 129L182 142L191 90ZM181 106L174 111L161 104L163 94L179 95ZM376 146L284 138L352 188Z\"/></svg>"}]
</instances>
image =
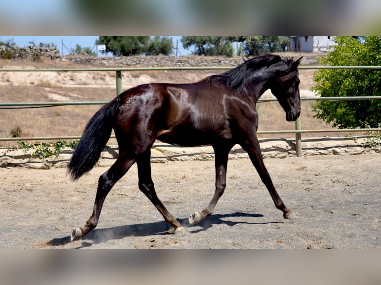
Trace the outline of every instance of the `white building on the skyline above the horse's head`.
<instances>
[{"instance_id":1,"label":"white building on the skyline above the horse's head","mask_svg":"<svg viewBox=\"0 0 381 285\"><path fill-rule=\"evenodd\" d=\"M291 36L291 52L327 52L335 36Z\"/></svg>"}]
</instances>

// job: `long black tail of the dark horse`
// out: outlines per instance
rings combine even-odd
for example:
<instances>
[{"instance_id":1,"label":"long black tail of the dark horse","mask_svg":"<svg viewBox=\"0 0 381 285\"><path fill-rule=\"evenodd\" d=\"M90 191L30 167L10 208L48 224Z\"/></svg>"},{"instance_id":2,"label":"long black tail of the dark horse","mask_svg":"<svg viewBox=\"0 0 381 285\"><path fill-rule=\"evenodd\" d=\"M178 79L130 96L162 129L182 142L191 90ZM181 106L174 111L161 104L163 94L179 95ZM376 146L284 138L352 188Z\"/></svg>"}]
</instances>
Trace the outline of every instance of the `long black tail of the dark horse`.
<instances>
[{"instance_id":1,"label":"long black tail of the dark horse","mask_svg":"<svg viewBox=\"0 0 381 285\"><path fill-rule=\"evenodd\" d=\"M117 97L105 104L87 123L68 164L68 171L73 180L90 171L98 161L111 136L115 111L119 101L120 98Z\"/></svg>"}]
</instances>

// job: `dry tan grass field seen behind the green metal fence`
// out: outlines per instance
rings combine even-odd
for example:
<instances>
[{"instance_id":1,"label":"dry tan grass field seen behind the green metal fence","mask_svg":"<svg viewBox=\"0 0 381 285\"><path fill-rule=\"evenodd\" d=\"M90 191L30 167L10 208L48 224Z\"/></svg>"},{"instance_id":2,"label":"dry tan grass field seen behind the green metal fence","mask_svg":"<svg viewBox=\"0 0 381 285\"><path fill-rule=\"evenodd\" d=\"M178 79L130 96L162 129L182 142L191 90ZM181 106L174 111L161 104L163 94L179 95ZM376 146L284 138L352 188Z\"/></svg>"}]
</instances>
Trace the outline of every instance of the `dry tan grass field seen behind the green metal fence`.
<instances>
[{"instance_id":1,"label":"dry tan grass field seen behind the green metal fence","mask_svg":"<svg viewBox=\"0 0 381 285\"><path fill-rule=\"evenodd\" d=\"M63 67L84 67L70 62L55 62L42 60L40 62L27 62L22 60L5 61L0 60L1 68L22 68L34 66L35 68L63 68ZM89 66L94 67L94 66ZM198 81L210 74L222 71L132 71L123 72L123 89L149 82L177 82L189 83ZM309 90L313 86L313 70L300 70L300 89ZM10 75L0 73L0 94L1 102L54 102L54 101L101 101L111 100L116 94L115 72L103 71L91 74L87 72L77 72L76 74L65 74L57 72L53 79L35 78L38 72L29 73L29 78L24 85L17 85L17 80L11 81ZM43 76L47 76L45 72ZM1 77L2 76L2 77ZM41 75L39 75L41 76ZM52 76L52 75L51 75ZM94 82L85 82L88 80ZM9 82L10 81L10 82ZM13 82L13 84L11 84ZM65 84L67 82L67 84ZM99 87L109 85L112 87ZM302 102L302 129L330 129L324 122L313 118L311 105L313 101ZM0 109L0 137L10 137L11 130L19 126L22 136L75 136L81 135L82 130L89 118L99 109L100 106L61 106L38 109ZM293 130L294 122L285 120L284 111L278 102L267 102L258 104L259 130ZM343 133L311 133L303 134L304 137L321 137L323 135L343 136ZM259 137L281 137L294 138L294 134L269 134ZM111 142L110 144L115 144ZM16 146L15 142L0 141L0 147Z\"/></svg>"}]
</instances>

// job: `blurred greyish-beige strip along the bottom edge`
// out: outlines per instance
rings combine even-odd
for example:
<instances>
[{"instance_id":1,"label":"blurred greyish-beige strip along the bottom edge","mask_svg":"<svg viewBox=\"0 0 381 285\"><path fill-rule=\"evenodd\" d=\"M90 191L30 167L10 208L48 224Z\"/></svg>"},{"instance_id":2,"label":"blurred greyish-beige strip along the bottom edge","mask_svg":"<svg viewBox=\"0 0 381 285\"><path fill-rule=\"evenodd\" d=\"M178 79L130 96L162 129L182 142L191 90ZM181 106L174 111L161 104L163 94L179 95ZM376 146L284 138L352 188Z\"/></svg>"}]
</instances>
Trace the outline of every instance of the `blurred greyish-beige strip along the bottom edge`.
<instances>
[{"instance_id":1,"label":"blurred greyish-beige strip along the bottom edge","mask_svg":"<svg viewBox=\"0 0 381 285\"><path fill-rule=\"evenodd\" d=\"M4 285L376 285L381 280L379 252L362 250L3 250L1 257Z\"/></svg>"}]
</instances>

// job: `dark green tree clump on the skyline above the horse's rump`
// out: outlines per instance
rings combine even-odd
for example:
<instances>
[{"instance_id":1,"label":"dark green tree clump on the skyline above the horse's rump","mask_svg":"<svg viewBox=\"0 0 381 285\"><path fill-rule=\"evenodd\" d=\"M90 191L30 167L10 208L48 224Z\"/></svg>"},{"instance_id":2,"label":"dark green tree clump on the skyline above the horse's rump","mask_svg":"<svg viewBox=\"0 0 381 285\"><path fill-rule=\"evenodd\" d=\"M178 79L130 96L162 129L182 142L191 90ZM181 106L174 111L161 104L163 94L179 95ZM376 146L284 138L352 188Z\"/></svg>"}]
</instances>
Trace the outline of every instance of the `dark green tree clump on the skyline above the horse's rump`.
<instances>
[{"instance_id":1,"label":"dark green tree clump on the skyline above the horse's rump","mask_svg":"<svg viewBox=\"0 0 381 285\"><path fill-rule=\"evenodd\" d=\"M160 36L99 36L98 43L115 56L169 55L173 50L172 38Z\"/></svg>"}]
</instances>

